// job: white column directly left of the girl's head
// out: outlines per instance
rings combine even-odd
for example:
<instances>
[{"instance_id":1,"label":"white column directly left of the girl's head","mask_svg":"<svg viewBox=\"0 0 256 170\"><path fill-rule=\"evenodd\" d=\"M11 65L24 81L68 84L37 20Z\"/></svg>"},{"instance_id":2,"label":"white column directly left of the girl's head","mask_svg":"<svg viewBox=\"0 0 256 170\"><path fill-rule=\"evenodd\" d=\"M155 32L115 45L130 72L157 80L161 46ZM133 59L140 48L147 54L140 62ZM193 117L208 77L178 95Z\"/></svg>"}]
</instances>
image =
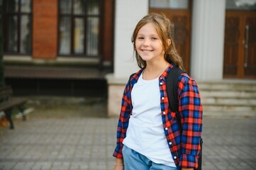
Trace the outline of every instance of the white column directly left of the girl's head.
<instances>
[{"instance_id":1,"label":"white column directly left of the girl's head","mask_svg":"<svg viewBox=\"0 0 256 170\"><path fill-rule=\"evenodd\" d=\"M115 44L114 44L114 77L128 77L138 70L133 57L131 36L143 16L148 14L148 0L116 1Z\"/></svg>"}]
</instances>

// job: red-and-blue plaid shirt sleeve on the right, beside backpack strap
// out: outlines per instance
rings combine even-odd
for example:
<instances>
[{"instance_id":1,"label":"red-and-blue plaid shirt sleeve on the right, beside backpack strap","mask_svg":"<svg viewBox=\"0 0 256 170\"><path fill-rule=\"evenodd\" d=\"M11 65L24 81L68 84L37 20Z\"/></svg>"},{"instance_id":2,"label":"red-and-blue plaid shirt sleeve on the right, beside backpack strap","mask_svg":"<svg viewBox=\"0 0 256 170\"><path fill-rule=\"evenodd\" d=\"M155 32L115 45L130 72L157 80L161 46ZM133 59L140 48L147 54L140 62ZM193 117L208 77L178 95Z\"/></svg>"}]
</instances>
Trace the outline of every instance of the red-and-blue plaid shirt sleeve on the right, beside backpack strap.
<instances>
[{"instance_id":1,"label":"red-and-blue plaid shirt sleeve on the right, beside backpack strap","mask_svg":"<svg viewBox=\"0 0 256 170\"><path fill-rule=\"evenodd\" d=\"M182 76L178 84L179 113L182 120L181 156L179 166L197 168L202 132L202 106L194 79Z\"/></svg>"}]
</instances>

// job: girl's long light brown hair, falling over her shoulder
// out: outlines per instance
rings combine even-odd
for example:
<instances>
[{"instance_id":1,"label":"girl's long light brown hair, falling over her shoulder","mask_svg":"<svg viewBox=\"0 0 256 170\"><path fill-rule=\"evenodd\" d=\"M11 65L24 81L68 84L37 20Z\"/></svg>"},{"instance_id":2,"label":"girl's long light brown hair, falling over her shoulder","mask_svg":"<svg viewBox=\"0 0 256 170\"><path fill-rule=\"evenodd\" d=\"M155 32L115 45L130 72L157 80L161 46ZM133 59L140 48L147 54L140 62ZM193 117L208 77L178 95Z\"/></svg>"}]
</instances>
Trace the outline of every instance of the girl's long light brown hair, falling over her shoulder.
<instances>
[{"instance_id":1,"label":"girl's long light brown hair, falling over her shoulder","mask_svg":"<svg viewBox=\"0 0 256 170\"><path fill-rule=\"evenodd\" d=\"M133 31L132 42L133 49L135 50L135 40L138 35L140 28L145 26L147 23L152 23L157 30L157 34L160 36L162 41L163 50L165 51L165 60L169 63L174 62L177 67L184 70L182 57L177 53L177 50L174 45L174 40L172 39L172 26L168 18L164 14L150 13L147 16L144 16L137 24ZM167 40L171 40L171 45L168 45ZM147 63L140 57L138 52L135 50L135 57L138 63L138 67L141 69L147 66Z\"/></svg>"}]
</instances>

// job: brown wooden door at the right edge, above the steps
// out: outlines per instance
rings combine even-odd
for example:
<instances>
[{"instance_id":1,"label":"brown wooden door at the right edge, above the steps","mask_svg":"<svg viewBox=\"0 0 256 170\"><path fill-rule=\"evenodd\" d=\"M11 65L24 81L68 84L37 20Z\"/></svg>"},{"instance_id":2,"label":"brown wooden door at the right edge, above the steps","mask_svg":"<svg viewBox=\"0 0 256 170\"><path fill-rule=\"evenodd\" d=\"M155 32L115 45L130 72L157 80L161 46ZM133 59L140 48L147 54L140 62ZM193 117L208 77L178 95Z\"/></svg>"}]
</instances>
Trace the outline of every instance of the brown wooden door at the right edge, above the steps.
<instances>
[{"instance_id":1,"label":"brown wooden door at the right edge, above the steps","mask_svg":"<svg viewBox=\"0 0 256 170\"><path fill-rule=\"evenodd\" d=\"M226 11L223 77L256 79L256 11Z\"/></svg>"}]
</instances>

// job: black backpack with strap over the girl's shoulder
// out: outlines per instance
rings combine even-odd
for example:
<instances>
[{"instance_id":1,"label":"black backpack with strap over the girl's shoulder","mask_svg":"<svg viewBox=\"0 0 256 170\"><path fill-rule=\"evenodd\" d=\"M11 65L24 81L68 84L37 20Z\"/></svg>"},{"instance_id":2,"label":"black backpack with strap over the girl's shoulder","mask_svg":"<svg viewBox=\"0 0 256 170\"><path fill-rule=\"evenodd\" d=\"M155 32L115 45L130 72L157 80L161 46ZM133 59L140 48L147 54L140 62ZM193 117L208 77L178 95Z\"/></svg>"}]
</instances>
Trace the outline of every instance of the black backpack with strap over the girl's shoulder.
<instances>
[{"instance_id":1,"label":"black backpack with strap over the girl's shoulder","mask_svg":"<svg viewBox=\"0 0 256 170\"><path fill-rule=\"evenodd\" d=\"M180 74L185 73L182 69L179 69L179 67L172 67L172 69L169 70L169 73L167 75L167 80L166 80L166 88L167 88L167 96L169 100L169 108L171 111L174 111L176 113L176 117L178 120L179 124L179 130L182 130L182 123L181 123L181 118L179 116L179 101L178 101L178 81L179 81L179 76ZM203 145L203 140L201 138L200 140L200 154L199 154L199 159L198 159L198 167L195 170L201 170L201 164L202 164L202 145Z\"/></svg>"}]
</instances>

